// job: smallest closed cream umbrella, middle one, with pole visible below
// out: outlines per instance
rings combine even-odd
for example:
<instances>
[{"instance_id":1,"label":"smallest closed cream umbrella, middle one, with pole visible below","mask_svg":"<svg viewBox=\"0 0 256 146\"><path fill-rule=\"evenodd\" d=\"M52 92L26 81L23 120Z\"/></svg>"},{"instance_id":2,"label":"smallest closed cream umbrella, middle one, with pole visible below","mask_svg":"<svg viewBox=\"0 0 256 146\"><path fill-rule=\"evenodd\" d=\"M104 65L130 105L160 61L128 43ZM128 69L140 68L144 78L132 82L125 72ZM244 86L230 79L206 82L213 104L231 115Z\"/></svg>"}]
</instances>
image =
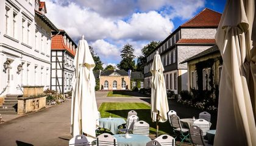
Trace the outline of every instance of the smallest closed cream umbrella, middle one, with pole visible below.
<instances>
[{"instance_id":1,"label":"smallest closed cream umbrella, middle one, with pole visible below","mask_svg":"<svg viewBox=\"0 0 256 146\"><path fill-rule=\"evenodd\" d=\"M165 88L165 78L163 77L163 64L158 54L154 57L151 67L151 118L153 122L157 122L157 137L158 137L158 122L166 122L168 120L167 112L169 111L168 100Z\"/></svg>"}]
</instances>

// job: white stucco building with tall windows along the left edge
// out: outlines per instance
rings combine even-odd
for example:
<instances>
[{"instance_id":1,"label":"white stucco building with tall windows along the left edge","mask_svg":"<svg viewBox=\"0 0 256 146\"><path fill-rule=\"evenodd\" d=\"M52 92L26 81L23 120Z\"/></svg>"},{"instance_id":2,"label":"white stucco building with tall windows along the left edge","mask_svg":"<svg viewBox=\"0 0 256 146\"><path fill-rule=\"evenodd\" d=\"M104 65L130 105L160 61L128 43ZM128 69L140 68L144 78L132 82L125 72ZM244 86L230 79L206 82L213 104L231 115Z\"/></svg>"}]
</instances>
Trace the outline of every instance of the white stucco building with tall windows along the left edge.
<instances>
[{"instance_id":1,"label":"white stucco building with tall windows along the left edge","mask_svg":"<svg viewBox=\"0 0 256 146\"><path fill-rule=\"evenodd\" d=\"M23 94L23 85L49 88L51 31L39 0L0 1L0 97Z\"/></svg>"}]
</instances>

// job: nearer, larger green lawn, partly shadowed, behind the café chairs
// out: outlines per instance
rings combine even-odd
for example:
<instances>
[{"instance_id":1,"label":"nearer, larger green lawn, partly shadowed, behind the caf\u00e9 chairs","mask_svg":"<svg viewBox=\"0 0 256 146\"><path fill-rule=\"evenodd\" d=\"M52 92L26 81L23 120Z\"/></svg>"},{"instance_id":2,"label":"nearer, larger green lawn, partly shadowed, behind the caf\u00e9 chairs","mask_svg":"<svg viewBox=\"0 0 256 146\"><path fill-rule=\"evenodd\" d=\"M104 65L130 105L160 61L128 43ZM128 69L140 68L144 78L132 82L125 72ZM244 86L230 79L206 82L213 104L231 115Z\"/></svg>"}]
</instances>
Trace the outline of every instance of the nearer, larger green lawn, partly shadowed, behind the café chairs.
<instances>
[{"instance_id":1,"label":"nearer, larger green lawn, partly shadowed, behind the caf\u00e9 chairs","mask_svg":"<svg viewBox=\"0 0 256 146\"><path fill-rule=\"evenodd\" d=\"M155 134L156 123L151 119L151 107L145 103L126 103L126 102L104 102L99 107L101 117L121 117L127 119L127 113L130 110L135 110L140 120L144 120L149 123L150 133ZM171 134L172 128L169 122L159 123L159 134Z\"/></svg>"}]
</instances>

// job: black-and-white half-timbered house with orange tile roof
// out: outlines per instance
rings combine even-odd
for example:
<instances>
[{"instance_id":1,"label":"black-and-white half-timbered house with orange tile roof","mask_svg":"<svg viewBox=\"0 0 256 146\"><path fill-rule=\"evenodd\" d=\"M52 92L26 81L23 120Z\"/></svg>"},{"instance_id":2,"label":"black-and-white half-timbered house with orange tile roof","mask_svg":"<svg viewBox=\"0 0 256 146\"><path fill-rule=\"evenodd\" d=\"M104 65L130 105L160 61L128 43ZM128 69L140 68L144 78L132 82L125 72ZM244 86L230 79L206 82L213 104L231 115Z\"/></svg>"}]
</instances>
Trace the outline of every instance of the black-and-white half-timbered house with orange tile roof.
<instances>
[{"instance_id":1,"label":"black-and-white half-timbered house with orange tile roof","mask_svg":"<svg viewBox=\"0 0 256 146\"><path fill-rule=\"evenodd\" d=\"M65 30L52 32L51 89L61 93L71 91L76 49L77 44L74 43Z\"/></svg>"}]
</instances>

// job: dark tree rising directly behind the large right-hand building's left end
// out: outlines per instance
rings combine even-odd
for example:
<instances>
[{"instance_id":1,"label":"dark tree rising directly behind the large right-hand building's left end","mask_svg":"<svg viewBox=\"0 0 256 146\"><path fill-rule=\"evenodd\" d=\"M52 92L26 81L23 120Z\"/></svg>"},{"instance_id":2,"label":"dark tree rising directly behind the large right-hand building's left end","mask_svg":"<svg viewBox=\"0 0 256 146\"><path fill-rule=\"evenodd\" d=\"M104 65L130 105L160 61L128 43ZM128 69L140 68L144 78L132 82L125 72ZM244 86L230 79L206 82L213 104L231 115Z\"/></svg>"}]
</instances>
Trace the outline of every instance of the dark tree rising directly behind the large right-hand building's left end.
<instances>
[{"instance_id":1,"label":"dark tree rising directly behind the large right-hand building's left end","mask_svg":"<svg viewBox=\"0 0 256 146\"><path fill-rule=\"evenodd\" d=\"M137 59L137 71L143 71L143 64L147 63L147 56L161 43L161 41L151 41L141 49L142 55Z\"/></svg>"}]
</instances>

